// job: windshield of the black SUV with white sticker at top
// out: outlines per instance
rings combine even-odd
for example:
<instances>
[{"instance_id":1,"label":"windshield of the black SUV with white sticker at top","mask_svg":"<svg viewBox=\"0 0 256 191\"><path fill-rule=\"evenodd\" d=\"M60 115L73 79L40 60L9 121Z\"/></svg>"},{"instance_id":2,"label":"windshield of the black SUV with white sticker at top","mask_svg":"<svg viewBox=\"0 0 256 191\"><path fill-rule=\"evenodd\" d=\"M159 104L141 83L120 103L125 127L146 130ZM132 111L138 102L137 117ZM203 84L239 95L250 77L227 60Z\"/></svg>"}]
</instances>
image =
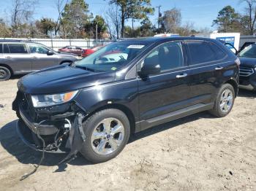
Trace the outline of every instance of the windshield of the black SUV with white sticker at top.
<instances>
[{"instance_id":1,"label":"windshield of the black SUV with white sticker at top","mask_svg":"<svg viewBox=\"0 0 256 191\"><path fill-rule=\"evenodd\" d=\"M90 71L115 71L126 65L147 47L146 42L114 42L75 62L75 67Z\"/></svg>"}]
</instances>

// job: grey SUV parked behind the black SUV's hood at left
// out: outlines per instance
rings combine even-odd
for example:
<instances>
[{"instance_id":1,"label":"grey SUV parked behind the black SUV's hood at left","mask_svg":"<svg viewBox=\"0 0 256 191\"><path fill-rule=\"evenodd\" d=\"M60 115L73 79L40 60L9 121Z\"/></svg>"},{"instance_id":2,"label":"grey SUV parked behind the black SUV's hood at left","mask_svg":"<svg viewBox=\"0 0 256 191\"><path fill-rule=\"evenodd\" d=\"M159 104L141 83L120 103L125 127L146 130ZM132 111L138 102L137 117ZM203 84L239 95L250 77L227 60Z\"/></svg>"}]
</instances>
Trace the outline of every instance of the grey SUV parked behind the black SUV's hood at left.
<instances>
[{"instance_id":1,"label":"grey SUV parked behind the black SUV's hood at left","mask_svg":"<svg viewBox=\"0 0 256 191\"><path fill-rule=\"evenodd\" d=\"M0 80L77 60L76 55L59 53L43 44L0 40Z\"/></svg>"}]
</instances>

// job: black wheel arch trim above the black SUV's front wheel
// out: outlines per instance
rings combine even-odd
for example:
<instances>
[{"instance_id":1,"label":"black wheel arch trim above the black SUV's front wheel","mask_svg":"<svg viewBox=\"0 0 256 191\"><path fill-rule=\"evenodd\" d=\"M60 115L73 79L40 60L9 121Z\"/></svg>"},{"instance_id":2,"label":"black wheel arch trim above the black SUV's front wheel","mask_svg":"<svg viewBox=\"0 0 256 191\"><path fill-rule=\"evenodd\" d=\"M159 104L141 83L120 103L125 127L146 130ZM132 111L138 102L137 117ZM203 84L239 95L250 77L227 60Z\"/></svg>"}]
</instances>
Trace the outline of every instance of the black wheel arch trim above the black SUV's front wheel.
<instances>
[{"instance_id":1,"label":"black wheel arch trim above the black SUV's front wheel","mask_svg":"<svg viewBox=\"0 0 256 191\"><path fill-rule=\"evenodd\" d=\"M135 116L134 114L132 114L132 111L127 106L124 106L122 104L106 104L106 105L99 106L97 107L97 109L94 109L93 111L91 111L89 115L86 116L86 119L89 118L91 115L99 111L102 111L104 109L118 109L121 112L124 112L124 114L126 114L126 116L128 117L131 133L135 133Z\"/></svg>"}]
</instances>

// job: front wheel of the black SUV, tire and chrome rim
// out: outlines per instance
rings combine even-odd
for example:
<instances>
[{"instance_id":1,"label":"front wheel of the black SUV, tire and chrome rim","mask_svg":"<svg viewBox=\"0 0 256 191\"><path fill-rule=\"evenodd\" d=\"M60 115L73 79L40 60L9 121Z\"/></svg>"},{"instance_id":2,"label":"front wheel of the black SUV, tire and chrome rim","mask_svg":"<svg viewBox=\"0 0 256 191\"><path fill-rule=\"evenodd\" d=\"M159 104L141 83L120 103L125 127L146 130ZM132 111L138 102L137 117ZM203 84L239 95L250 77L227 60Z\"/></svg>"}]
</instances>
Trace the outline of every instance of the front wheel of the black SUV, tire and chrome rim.
<instances>
[{"instance_id":1,"label":"front wheel of the black SUV, tire and chrome rim","mask_svg":"<svg viewBox=\"0 0 256 191\"><path fill-rule=\"evenodd\" d=\"M108 126L110 126L110 133L105 133L106 131L104 129L108 128L104 127ZM110 136L111 130L113 132L119 130L120 132L116 134L112 133L113 135ZM91 163L103 163L116 157L124 149L129 139L130 125L124 112L118 109L105 109L93 114L83 122L83 131L86 135L86 142L83 144L80 153ZM102 134L105 134L105 138L102 138ZM97 137L100 138L97 139ZM114 144L116 142L118 144ZM112 143L115 147L112 147ZM105 146L100 147L100 145Z\"/></svg>"}]
</instances>

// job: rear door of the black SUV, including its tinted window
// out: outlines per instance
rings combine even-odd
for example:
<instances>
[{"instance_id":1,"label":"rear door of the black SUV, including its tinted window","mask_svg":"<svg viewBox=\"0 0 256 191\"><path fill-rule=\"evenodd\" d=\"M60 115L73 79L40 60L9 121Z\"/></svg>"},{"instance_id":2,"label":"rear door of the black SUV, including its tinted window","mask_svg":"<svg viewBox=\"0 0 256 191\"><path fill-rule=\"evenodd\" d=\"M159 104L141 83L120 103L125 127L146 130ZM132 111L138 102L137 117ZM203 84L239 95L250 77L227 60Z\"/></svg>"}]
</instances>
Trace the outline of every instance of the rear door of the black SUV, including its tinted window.
<instances>
[{"instance_id":1,"label":"rear door of the black SUV, including its tinted window","mask_svg":"<svg viewBox=\"0 0 256 191\"><path fill-rule=\"evenodd\" d=\"M214 101L222 84L227 54L217 44L206 41L187 41L191 96L194 104Z\"/></svg>"}]
</instances>

